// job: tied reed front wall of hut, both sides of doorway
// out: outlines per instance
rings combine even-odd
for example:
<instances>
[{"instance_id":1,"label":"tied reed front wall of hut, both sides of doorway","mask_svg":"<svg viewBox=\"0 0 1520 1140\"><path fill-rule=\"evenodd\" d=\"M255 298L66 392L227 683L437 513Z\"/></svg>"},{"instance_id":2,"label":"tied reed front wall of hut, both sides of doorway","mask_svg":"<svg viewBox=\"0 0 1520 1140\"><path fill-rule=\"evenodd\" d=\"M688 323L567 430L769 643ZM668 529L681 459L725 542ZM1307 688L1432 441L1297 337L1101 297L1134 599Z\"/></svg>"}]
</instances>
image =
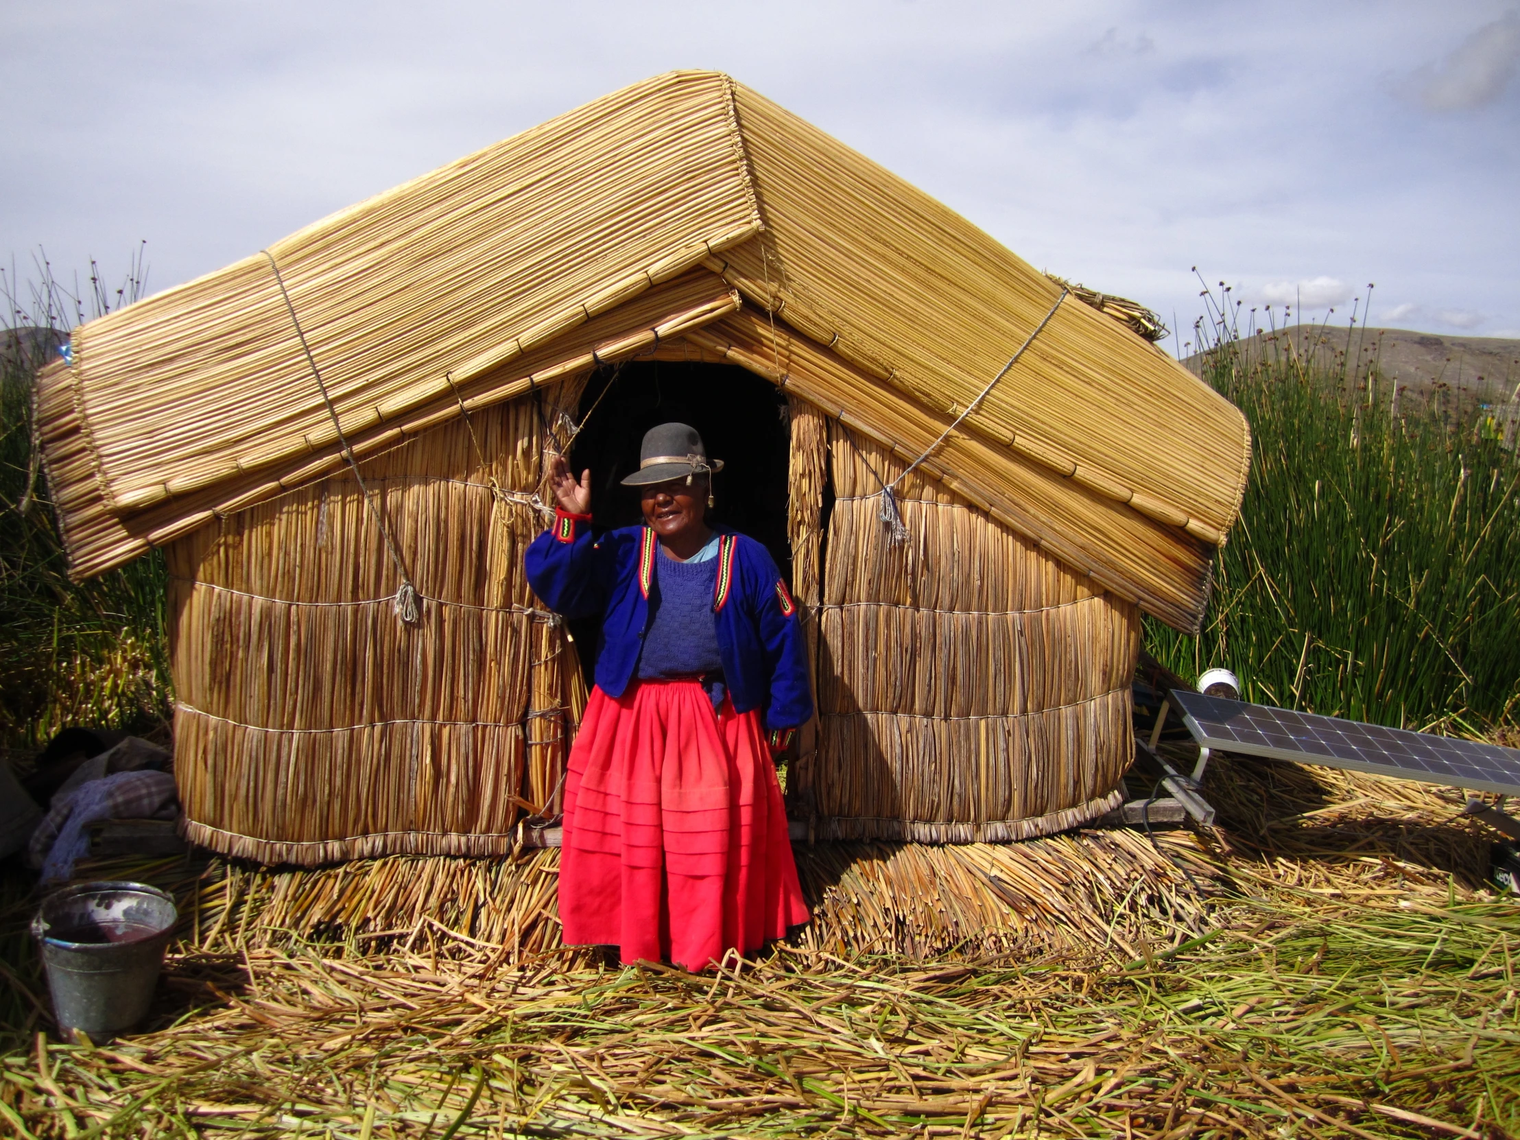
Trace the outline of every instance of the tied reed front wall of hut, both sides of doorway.
<instances>
[{"instance_id":1,"label":"tied reed front wall of hut, both sides of doorway","mask_svg":"<svg viewBox=\"0 0 1520 1140\"><path fill-rule=\"evenodd\" d=\"M664 354L692 350L667 342ZM532 596L540 441L581 382L476 410L167 549L192 839L266 863L492 856L553 816L585 702ZM997 842L1108 810L1132 755L1138 610L793 397L793 587L818 716L789 778L816 839Z\"/></svg>"}]
</instances>

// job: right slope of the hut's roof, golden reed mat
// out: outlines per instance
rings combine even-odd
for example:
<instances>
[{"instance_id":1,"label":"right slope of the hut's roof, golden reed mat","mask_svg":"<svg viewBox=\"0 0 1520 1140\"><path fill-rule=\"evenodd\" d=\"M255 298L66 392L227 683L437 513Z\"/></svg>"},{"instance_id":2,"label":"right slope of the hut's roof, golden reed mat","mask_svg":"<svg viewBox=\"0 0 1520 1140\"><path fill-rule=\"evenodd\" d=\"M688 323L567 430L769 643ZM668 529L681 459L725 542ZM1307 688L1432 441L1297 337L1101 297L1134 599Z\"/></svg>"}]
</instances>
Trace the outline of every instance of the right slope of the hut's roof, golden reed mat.
<instances>
[{"instance_id":1,"label":"right slope of the hut's roof, golden reed mat","mask_svg":"<svg viewBox=\"0 0 1520 1140\"><path fill-rule=\"evenodd\" d=\"M959 413L1059 286L758 93L736 84L734 99L766 228L722 254L731 280L915 403ZM1140 508L1151 496L1183 515L1178 526L1196 520L1218 541L1243 489L1245 420L1183 385L1183 371L1094 309L1062 306L965 426L1091 465L1132 488Z\"/></svg>"}]
</instances>

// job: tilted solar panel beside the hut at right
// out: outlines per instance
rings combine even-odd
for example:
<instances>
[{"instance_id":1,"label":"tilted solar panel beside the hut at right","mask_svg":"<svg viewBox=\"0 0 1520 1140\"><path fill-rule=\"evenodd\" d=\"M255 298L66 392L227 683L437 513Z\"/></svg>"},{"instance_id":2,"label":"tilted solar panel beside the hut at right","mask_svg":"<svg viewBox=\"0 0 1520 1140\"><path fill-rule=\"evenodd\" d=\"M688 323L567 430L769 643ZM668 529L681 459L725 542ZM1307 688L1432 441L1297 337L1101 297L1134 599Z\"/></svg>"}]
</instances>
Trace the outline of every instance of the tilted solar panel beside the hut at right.
<instances>
[{"instance_id":1,"label":"tilted solar panel beside the hut at right","mask_svg":"<svg viewBox=\"0 0 1520 1140\"><path fill-rule=\"evenodd\" d=\"M1178 689L1170 699L1193 739L1208 749L1520 795L1520 749Z\"/></svg>"}]
</instances>

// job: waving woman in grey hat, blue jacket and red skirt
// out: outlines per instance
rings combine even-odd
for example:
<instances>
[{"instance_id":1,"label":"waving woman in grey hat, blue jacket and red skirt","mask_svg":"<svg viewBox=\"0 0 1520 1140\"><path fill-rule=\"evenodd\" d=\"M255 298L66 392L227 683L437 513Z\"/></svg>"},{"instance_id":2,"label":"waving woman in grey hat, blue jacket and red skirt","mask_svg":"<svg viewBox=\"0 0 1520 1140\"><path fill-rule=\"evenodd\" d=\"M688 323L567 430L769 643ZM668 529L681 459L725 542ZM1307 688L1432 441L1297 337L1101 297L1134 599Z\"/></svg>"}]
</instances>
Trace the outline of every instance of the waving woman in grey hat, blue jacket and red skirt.
<instances>
[{"instance_id":1,"label":"waving woman in grey hat, blue jacket and red skirt","mask_svg":"<svg viewBox=\"0 0 1520 1140\"><path fill-rule=\"evenodd\" d=\"M593 534L591 473L553 458L555 524L527 581L599 617L596 687L565 777L568 944L689 970L806 923L771 749L813 714L796 606L766 549L705 521L711 476L686 424L644 435L644 524Z\"/></svg>"}]
</instances>

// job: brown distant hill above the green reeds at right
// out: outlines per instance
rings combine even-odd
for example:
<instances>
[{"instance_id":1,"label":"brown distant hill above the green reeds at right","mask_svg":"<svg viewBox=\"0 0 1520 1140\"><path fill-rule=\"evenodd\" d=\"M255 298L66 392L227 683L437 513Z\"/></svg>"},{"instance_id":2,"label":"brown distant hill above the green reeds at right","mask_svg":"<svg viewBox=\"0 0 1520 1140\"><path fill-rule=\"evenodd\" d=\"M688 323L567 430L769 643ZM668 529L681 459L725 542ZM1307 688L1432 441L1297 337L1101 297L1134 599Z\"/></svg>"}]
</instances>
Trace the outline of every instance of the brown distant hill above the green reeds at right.
<instances>
[{"instance_id":1,"label":"brown distant hill above the green reeds at right","mask_svg":"<svg viewBox=\"0 0 1520 1140\"><path fill-rule=\"evenodd\" d=\"M1356 328L1344 325L1290 325L1249 337L1246 350L1297 356L1327 369L1345 368L1350 354L1354 372L1377 365L1386 380L1417 395L1436 385L1459 394L1459 401L1505 403L1520 386L1520 340L1491 336L1436 336L1408 328ZM1184 363L1196 371L1198 357ZM1345 369L1348 374L1353 369Z\"/></svg>"}]
</instances>

